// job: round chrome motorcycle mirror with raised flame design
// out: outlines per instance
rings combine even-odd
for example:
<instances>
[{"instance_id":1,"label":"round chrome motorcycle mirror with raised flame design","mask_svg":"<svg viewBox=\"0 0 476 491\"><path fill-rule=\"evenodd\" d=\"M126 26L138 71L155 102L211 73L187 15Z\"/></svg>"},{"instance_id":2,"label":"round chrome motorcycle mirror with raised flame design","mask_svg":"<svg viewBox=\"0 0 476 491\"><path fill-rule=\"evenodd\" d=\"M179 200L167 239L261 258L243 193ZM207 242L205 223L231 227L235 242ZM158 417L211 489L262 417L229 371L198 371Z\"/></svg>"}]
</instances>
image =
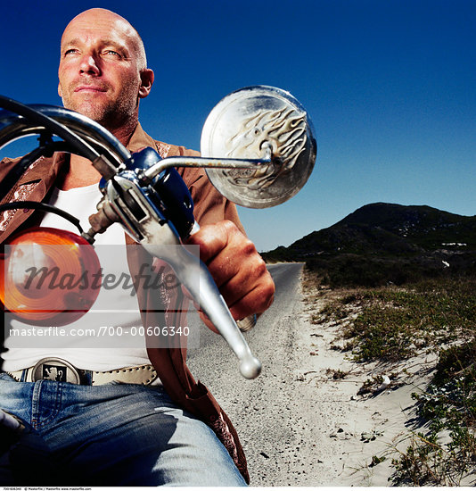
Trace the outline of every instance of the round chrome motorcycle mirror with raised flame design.
<instances>
[{"instance_id":1,"label":"round chrome motorcycle mirror with raised flame design","mask_svg":"<svg viewBox=\"0 0 476 491\"><path fill-rule=\"evenodd\" d=\"M267 208L306 184L316 162L316 138L308 112L291 94L276 87L245 87L209 113L201 156L264 160L252 169L207 169L207 174L230 201Z\"/></svg>"}]
</instances>

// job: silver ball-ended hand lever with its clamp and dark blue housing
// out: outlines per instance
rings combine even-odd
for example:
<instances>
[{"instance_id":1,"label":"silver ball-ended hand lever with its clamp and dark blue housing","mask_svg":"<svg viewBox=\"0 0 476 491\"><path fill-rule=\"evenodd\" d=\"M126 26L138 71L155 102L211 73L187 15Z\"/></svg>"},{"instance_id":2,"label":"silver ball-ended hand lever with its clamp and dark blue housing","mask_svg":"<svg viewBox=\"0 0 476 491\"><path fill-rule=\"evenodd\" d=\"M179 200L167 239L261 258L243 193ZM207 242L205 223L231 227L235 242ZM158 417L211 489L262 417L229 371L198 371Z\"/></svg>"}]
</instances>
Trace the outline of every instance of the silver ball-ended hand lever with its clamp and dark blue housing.
<instances>
[{"instance_id":1,"label":"silver ball-ended hand lever with its clamp and dark blue housing","mask_svg":"<svg viewBox=\"0 0 476 491\"><path fill-rule=\"evenodd\" d=\"M230 345L240 361L242 376L255 379L261 363L251 353L205 263L198 259L197 279L197 258L192 253L184 246L164 247L183 245L199 229L193 217L192 196L173 167L177 163L173 159L161 159L152 148L144 148L125 162L123 171L108 173L109 179L102 179L99 185L103 198L98 212L90 217L91 229L83 237L92 243L97 233L119 222L149 254L168 262L177 279ZM195 167L198 160L207 162L200 157L192 159ZM97 168L97 163L94 165ZM152 168L154 171L150 171Z\"/></svg>"}]
</instances>

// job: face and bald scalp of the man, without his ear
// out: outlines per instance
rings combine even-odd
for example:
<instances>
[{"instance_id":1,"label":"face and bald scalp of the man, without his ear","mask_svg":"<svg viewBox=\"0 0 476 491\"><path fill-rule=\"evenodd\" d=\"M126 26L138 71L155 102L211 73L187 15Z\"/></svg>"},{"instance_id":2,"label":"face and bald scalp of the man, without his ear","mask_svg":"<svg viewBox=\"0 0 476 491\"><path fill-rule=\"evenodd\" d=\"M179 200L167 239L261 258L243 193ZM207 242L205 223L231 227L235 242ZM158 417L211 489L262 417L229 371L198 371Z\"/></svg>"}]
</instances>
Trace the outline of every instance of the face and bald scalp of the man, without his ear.
<instances>
[{"instance_id":1,"label":"face and bald scalp of the man, without his ear","mask_svg":"<svg viewBox=\"0 0 476 491\"><path fill-rule=\"evenodd\" d=\"M127 21L112 12L83 12L62 36L58 94L66 108L118 129L137 119L142 62Z\"/></svg>"}]
</instances>

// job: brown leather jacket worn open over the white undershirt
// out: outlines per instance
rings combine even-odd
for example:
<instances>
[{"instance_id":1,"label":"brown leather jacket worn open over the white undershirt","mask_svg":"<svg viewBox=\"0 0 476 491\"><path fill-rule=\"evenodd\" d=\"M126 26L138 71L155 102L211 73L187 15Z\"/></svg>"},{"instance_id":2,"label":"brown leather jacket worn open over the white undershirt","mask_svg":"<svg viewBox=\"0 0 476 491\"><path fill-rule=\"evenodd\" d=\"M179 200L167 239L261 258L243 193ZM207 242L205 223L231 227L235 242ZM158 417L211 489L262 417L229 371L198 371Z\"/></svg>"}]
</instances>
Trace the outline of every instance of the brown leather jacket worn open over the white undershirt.
<instances>
[{"instance_id":1,"label":"brown leather jacket worn open over the white undershirt","mask_svg":"<svg viewBox=\"0 0 476 491\"><path fill-rule=\"evenodd\" d=\"M127 148L130 152L136 152L145 146L157 149L163 158L174 155L198 155L197 152L187 150L183 146L172 146L153 140L139 124ZM4 159L0 165L0 180L4 179L4 176L16 162L18 159ZM52 189L54 180L64 162L63 154L54 154L53 158L41 157L12 187L2 203L25 200L43 201L49 190ZM182 168L177 169L177 171L182 175L192 193L195 219L201 226L226 219L234 221L242 229L236 207L217 192L215 187L210 184L204 171L193 168ZM19 227L35 225L36 218L37 216L32 210L13 210L0 213L0 244L7 243L8 237ZM129 244L132 242L128 236L127 242ZM144 248L139 245L127 247L127 262L131 274L135 274L138 264L144 263L145 256L143 254L146 254ZM157 312L157 298L152 298L150 288L142 293L138 291L137 295L139 298L141 295L148 295L149 297L140 298L140 304L152 306L151 309L146 308L144 311L141 309L144 326L184 325L180 323L180 317L177 316L184 315L183 311L186 310L184 305L188 301L183 298L180 291L168 298L165 314ZM153 343L153 339L147 339L149 358L168 391L168 395L176 404L195 414L215 431L217 437L232 456L243 478L249 483L246 459L236 431L207 387L200 381L193 379L192 373L186 365L186 346L178 338L180 337L168 339L168 345L160 348L152 347L157 343Z\"/></svg>"}]
</instances>

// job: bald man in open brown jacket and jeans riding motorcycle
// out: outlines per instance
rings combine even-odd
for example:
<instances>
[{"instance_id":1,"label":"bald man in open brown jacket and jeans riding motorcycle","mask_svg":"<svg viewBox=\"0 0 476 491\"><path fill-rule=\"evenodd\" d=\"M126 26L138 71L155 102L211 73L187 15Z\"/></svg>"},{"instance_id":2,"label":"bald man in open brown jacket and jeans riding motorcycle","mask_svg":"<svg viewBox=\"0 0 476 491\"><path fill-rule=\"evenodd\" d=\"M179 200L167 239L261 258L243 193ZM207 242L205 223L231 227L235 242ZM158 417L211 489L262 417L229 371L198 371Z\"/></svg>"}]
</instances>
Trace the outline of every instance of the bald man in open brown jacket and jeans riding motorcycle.
<instances>
[{"instance_id":1,"label":"bald man in open brown jacket and jeans riding motorcycle","mask_svg":"<svg viewBox=\"0 0 476 491\"><path fill-rule=\"evenodd\" d=\"M183 147L155 142L138 123L139 101L151 91L153 72L147 68L141 38L118 14L91 9L70 21L62 35L58 73L58 93L64 106L101 123L130 151L153 146L162 157L188 154ZM11 164L4 163L0 177ZM201 259L207 263L234 318L264 312L272 302L274 284L254 245L244 236L234 205L217 194L203 172L181 173L191 189L195 218L201 224L190 243L200 245ZM62 204L62 209L70 207L73 214L84 214L88 202L97 203L90 193L97 193L100 178L86 159L55 154L53 159L36 162L7 199L47 201ZM13 231L40 220L37 214L30 215L22 210L4 215L0 240L8 243ZM54 219L46 216L41 225L55 225L48 220ZM109 232L104 234L109 243L124 240L123 232ZM134 251L124 262L141 261L143 251ZM183 298L173 301L179 304ZM143 312L144 325L148 325L149 315ZM45 353L34 348L26 353L12 347L3 355L0 408L11 426L20 421L29 429L24 430L25 434L39 439L42 457L31 469L38 472L37 462L48 462L48 472L53 468L62 475L49 484L240 486L243 477L248 479L233 426L206 387L193 379L185 364L184 349L147 346L147 352L144 348L98 353L66 346L60 350L62 356ZM68 370L72 365L80 384L48 377L25 381L32 377L32 364L41 362L38 358L42 356L48 361L54 360L49 356L61 358L60 366ZM53 366L53 362L42 365L48 374ZM130 379L130 374L144 370L150 371L149 379ZM104 383L111 379L119 383ZM97 387L91 387L94 384ZM23 454L19 448L23 448ZM22 484L25 480L44 484L38 476L29 476L28 461L35 456L24 448L20 441L8 462L0 459L0 470L4 469L0 477L9 476L0 484ZM18 474L21 478L15 481Z\"/></svg>"}]
</instances>

